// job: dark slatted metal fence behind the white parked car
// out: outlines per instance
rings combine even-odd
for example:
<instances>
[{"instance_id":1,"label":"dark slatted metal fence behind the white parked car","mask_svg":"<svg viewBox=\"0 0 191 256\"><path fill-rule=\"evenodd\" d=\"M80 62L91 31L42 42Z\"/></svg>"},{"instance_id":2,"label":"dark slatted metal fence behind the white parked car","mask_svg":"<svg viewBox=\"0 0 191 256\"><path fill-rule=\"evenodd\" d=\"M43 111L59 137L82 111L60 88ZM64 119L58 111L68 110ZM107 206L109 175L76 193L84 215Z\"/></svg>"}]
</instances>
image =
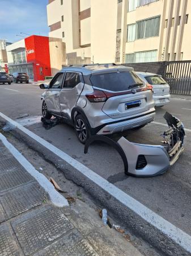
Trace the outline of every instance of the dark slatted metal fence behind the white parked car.
<instances>
[{"instance_id":1,"label":"dark slatted metal fence behind the white parked car","mask_svg":"<svg viewBox=\"0 0 191 256\"><path fill-rule=\"evenodd\" d=\"M171 87L172 94L191 95L191 60L125 63L135 71L162 75Z\"/></svg>"}]
</instances>

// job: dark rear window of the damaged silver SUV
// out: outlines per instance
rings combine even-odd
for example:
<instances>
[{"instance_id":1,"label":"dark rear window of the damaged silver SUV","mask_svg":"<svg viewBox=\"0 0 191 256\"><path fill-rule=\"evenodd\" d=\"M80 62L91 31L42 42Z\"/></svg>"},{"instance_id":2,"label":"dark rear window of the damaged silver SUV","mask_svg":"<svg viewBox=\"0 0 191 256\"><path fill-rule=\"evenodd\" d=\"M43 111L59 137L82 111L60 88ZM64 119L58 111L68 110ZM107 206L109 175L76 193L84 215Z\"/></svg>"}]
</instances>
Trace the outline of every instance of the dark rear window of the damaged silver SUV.
<instances>
[{"instance_id":1,"label":"dark rear window of the damaged silver SUV","mask_svg":"<svg viewBox=\"0 0 191 256\"><path fill-rule=\"evenodd\" d=\"M114 72L92 75L90 77L93 86L113 92L121 92L143 86L143 81L134 71Z\"/></svg>"}]
</instances>

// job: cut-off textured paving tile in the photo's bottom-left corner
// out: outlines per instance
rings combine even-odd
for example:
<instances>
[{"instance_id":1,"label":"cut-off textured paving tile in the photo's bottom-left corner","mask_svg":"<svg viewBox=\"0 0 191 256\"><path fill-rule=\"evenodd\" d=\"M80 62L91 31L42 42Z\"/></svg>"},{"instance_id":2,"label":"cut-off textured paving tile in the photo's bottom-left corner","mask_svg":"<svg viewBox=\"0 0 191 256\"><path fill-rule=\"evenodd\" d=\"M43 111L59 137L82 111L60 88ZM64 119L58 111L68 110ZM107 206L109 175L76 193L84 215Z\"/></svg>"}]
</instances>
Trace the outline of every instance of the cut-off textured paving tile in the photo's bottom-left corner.
<instances>
[{"instance_id":1,"label":"cut-off textured paving tile in the photo's bottom-left corner","mask_svg":"<svg viewBox=\"0 0 191 256\"><path fill-rule=\"evenodd\" d=\"M0 255L1 256L19 256L19 248L12 237L9 226L6 223L0 225Z\"/></svg>"}]
</instances>

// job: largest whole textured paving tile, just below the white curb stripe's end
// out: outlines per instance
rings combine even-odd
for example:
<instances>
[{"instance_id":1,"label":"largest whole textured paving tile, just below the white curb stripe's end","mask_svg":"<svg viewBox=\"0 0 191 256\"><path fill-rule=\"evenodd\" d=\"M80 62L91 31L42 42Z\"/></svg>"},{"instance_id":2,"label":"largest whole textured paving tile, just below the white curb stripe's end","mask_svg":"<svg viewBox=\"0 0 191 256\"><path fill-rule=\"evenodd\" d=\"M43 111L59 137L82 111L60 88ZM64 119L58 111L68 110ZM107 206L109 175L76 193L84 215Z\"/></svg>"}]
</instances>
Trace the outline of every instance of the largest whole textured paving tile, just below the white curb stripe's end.
<instances>
[{"instance_id":1,"label":"largest whole textured paving tile, just below the white curb stripe's end","mask_svg":"<svg viewBox=\"0 0 191 256\"><path fill-rule=\"evenodd\" d=\"M50 245L74 226L60 208L45 206L11 221L24 254L29 255Z\"/></svg>"}]
</instances>

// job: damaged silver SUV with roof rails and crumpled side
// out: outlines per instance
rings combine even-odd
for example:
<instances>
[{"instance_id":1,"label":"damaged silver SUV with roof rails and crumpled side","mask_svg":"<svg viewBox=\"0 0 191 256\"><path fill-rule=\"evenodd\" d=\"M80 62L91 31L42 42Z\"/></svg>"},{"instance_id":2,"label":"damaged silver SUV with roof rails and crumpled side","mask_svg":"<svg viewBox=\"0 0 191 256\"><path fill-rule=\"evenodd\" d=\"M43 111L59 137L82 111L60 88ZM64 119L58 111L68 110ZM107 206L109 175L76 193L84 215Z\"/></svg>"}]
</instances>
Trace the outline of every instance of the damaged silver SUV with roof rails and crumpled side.
<instances>
[{"instance_id":1,"label":"damaged silver SUV with roof rails and crumpled side","mask_svg":"<svg viewBox=\"0 0 191 256\"><path fill-rule=\"evenodd\" d=\"M113 134L143 127L155 115L152 86L133 68L116 64L90 64L63 68L41 84L42 114L72 124L80 142L90 135Z\"/></svg>"}]
</instances>

